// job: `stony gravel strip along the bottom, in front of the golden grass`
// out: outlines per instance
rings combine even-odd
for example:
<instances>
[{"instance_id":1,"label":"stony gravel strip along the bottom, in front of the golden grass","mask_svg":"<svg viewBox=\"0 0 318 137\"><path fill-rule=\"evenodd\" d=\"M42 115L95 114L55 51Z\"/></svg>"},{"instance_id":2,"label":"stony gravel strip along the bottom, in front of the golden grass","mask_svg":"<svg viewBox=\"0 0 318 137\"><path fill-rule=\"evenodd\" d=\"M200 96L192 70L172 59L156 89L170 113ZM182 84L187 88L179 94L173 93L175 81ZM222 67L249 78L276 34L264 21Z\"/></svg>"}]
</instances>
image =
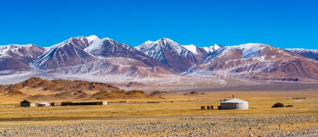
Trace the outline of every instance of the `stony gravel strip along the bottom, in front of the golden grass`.
<instances>
[{"instance_id":1,"label":"stony gravel strip along the bottom, in front of the golden grass","mask_svg":"<svg viewBox=\"0 0 318 137\"><path fill-rule=\"evenodd\" d=\"M317 115L2 121L0 136L318 136Z\"/></svg>"}]
</instances>

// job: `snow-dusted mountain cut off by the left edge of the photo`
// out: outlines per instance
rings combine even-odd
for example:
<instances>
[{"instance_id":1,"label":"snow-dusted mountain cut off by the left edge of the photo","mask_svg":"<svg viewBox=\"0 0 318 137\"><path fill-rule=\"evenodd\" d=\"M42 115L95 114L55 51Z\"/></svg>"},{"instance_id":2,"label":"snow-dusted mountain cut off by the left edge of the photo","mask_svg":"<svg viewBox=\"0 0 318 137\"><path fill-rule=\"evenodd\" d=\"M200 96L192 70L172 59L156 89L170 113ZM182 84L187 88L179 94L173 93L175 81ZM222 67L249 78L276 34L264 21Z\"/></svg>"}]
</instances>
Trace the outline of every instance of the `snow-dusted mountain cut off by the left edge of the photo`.
<instances>
[{"instance_id":1,"label":"snow-dusted mountain cut off by the left edge of the photo","mask_svg":"<svg viewBox=\"0 0 318 137\"><path fill-rule=\"evenodd\" d=\"M44 48L33 44L0 46L0 70L28 70L29 63L44 52Z\"/></svg>"}]
</instances>

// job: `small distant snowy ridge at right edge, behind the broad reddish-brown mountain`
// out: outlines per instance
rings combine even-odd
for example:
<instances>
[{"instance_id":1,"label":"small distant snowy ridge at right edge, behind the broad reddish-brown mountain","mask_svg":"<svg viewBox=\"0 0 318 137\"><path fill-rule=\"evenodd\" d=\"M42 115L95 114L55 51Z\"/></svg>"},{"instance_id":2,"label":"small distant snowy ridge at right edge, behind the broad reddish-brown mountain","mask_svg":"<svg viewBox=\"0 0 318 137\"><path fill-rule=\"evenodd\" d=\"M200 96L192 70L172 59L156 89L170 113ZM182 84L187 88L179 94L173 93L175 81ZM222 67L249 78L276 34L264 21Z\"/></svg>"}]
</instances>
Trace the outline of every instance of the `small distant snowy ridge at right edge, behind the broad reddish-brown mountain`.
<instances>
[{"instance_id":1,"label":"small distant snowy ridge at right edge, behind the broad reddish-brown mountain","mask_svg":"<svg viewBox=\"0 0 318 137\"><path fill-rule=\"evenodd\" d=\"M318 60L318 49L287 48L285 50L292 53L297 53L303 57Z\"/></svg>"}]
</instances>

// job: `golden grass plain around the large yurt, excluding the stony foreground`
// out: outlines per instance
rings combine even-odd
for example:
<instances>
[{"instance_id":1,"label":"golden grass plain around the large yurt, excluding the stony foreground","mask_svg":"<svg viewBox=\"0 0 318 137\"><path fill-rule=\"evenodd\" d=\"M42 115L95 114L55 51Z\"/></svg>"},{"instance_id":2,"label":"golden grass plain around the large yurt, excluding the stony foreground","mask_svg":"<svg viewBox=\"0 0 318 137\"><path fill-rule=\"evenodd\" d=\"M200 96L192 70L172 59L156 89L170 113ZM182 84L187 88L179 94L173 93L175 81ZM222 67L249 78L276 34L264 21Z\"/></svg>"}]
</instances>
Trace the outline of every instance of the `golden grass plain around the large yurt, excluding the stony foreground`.
<instances>
[{"instance_id":1,"label":"golden grass plain around the large yurt, excluding the stony foreground","mask_svg":"<svg viewBox=\"0 0 318 137\"><path fill-rule=\"evenodd\" d=\"M172 95L171 95L172 94ZM289 96L288 96L289 95ZM170 93L166 99L128 100L127 103L110 103L105 106L50 106L0 108L2 120L72 119L94 117L156 117L156 116L269 116L291 114L318 114L317 93L299 92L237 92L235 97L249 102L247 110L216 110L221 97L231 97L230 93L209 92L205 95L184 96ZM169 97L170 98L169 98ZM287 97L307 97L307 99L287 99ZM117 100L114 100L117 101ZM173 101L173 102L171 102ZM160 103L147 103L160 102ZM289 108L271 108L275 103L293 105ZM59 103L58 103L59 104ZM18 105L18 104L2 104ZM200 106L213 105L215 110L200 110Z\"/></svg>"}]
</instances>

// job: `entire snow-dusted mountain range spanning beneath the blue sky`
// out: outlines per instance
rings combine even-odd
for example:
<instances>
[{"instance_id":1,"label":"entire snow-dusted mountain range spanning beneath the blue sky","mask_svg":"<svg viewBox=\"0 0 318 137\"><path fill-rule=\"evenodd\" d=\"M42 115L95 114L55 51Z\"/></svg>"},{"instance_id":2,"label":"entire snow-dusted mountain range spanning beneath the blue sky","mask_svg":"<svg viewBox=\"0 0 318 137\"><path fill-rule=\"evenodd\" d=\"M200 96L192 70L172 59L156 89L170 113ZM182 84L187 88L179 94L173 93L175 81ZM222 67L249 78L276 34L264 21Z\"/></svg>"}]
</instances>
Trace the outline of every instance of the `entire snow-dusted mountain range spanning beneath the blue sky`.
<instances>
[{"instance_id":1,"label":"entire snow-dusted mountain range spanning beneath the blue sky","mask_svg":"<svg viewBox=\"0 0 318 137\"><path fill-rule=\"evenodd\" d=\"M0 77L34 73L55 77L104 79L170 76L318 80L318 50L282 49L267 44L208 47L181 45L171 39L136 47L110 38L72 37L50 47L0 46ZM25 78L27 79L27 78Z\"/></svg>"}]
</instances>

